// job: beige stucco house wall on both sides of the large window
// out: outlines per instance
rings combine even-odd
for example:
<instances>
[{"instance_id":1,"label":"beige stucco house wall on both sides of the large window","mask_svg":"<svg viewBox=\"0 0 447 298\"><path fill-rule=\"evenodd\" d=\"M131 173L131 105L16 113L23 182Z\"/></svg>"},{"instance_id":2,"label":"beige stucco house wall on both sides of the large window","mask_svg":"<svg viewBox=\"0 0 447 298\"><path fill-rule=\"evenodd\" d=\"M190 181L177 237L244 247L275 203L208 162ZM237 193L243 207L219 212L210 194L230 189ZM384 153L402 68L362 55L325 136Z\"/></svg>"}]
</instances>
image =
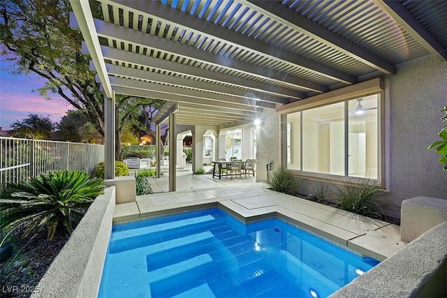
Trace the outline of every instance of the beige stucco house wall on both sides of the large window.
<instances>
[{"instance_id":1,"label":"beige stucco house wall on both sides of the large window","mask_svg":"<svg viewBox=\"0 0 447 298\"><path fill-rule=\"evenodd\" d=\"M390 202L386 214L400 218L400 205L405 199L447 199L447 172L438 163L440 156L427 150L439 140L437 134L444 127L439 110L447 105L447 62L425 57L403 64L385 83L385 197ZM277 168L281 158L279 114L263 114L263 128L258 130L256 181L267 178L265 163L273 161ZM306 186L305 191L312 193L312 183L306 181Z\"/></svg>"}]
</instances>

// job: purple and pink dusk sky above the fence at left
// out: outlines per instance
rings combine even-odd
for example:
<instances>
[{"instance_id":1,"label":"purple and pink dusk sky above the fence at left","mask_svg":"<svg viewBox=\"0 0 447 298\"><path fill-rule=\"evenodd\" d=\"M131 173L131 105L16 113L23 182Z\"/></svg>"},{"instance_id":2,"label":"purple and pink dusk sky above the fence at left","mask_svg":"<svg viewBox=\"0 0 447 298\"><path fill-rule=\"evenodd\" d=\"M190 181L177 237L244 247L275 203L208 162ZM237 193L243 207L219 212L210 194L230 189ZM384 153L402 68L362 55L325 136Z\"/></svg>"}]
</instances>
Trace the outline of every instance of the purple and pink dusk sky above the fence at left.
<instances>
[{"instance_id":1,"label":"purple and pink dusk sky above the fence at left","mask_svg":"<svg viewBox=\"0 0 447 298\"><path fill-rule=\"evenodd\" d=\"M57 94L50 94L51 100L38 94L37 89L45 84L43 78L34 74L10 75L6 71L10 65L10 61L0 57L0 126L3 130L9 129L15 121L27 118L30 112L59 121L67 110L73 110Z\"/></svg>"}]
</instances>

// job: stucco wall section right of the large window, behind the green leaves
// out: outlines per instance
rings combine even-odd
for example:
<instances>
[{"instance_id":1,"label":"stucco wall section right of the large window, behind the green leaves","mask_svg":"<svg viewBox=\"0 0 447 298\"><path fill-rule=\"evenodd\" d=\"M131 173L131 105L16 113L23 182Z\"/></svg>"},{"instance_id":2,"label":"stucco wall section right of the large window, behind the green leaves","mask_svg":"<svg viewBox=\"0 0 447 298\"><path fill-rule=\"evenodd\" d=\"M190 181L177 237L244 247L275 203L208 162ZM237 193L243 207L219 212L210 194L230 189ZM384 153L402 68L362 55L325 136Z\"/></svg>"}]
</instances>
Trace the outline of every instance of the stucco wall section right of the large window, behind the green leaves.
<instances>
[{"instance_id":1,"label":"stucco wall section right of the large window, behind the green leaves","mask_svg":"<svg viewBox=\"0 0 447 298\"><path fill-rule=\"evenodd\" d=\"M389 78L388 94L387 198L399 207L417 196L447 199L447 172L438 163L439 154L427 150L444 127L439 110L447 105L447 62L425 57L397 67L397 74Z\"/></svg>"}]
</instances>

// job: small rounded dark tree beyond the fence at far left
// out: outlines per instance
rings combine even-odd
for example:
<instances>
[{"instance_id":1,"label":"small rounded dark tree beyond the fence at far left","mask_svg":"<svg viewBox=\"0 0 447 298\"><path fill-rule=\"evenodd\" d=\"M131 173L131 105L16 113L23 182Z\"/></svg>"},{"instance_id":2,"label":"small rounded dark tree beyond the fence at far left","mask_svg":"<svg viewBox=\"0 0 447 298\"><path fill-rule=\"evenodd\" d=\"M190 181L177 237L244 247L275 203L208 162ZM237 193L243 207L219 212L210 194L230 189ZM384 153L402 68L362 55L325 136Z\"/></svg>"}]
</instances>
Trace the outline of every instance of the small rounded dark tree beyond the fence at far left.
<instances>
[{"instance_id":1,"label":"small rounded dark tree beyond the fence at far left","mask_svg":"<svg viewBox=\"0 0 447 298\"><path fill-rule=\"evenodd\" d=\"M9 126L10 135L14 137L31 137L33 139L48 139L56 128L49 117L38 114L29 114L23 121L15 121Z\"/></svg>"}]
</instances>

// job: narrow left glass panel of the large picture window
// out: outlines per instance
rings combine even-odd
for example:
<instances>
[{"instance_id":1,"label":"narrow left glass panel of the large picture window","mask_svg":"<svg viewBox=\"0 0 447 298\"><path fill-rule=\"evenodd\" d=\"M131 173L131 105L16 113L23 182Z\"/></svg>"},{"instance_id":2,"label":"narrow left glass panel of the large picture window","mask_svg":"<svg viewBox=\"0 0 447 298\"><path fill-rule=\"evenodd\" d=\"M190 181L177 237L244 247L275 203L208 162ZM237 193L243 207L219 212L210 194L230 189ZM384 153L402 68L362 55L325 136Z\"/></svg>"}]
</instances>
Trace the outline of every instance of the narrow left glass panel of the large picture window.
<instances>
[{"instance_id":1,"label":"narrow left glass panel of the large picture window","mask_svg":"<svg viewBox=\"0 0 447 298\"><path fill-rule=\"evenodd\" d=\"M301 112L287 115L287 168L301 170Z\"/></svg>"}]
</instances>

